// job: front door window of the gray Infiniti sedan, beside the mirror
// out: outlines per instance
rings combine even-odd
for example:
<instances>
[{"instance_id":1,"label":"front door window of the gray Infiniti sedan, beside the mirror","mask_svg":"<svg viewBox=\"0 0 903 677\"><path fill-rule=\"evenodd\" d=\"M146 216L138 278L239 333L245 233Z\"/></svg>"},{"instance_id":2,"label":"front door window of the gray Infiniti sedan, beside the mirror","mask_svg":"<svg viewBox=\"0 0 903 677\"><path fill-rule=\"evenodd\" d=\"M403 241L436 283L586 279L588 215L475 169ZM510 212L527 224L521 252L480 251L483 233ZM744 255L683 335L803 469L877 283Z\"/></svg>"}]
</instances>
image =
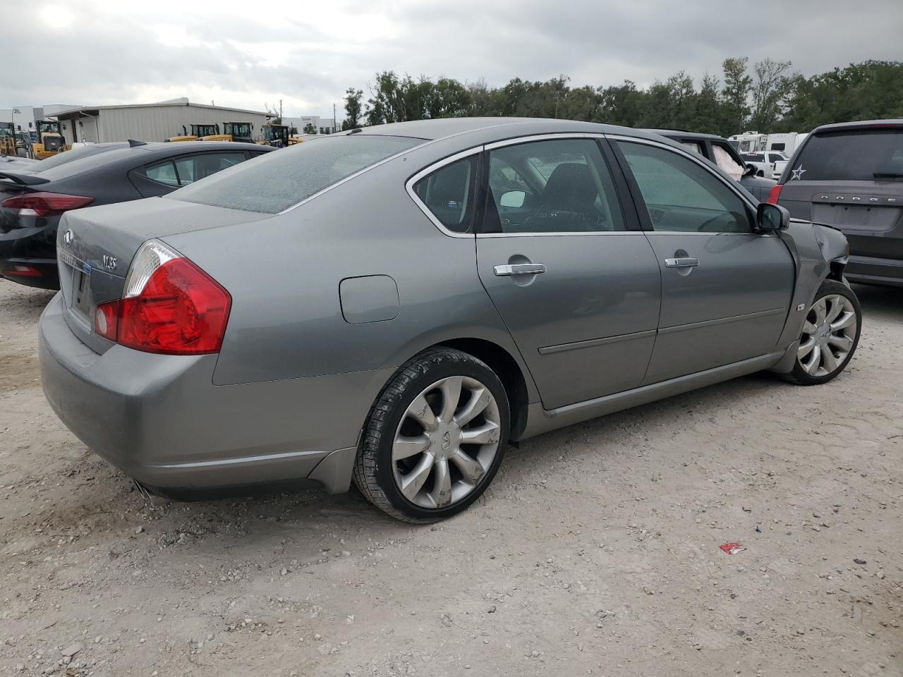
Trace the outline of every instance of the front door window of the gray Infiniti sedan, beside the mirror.
<instances>
[{"instance_id":1,"label":"front door window of the gray Infiniti sedan, beside the mirror","mask_svg":"<svg viewBox=\"0 0 903 677\"><path fill-rule=\"evenodd\" d=\"M717 176L656 146L619 142L655 230L751 233L746 203Z\"/></svg>"}]
</instances>

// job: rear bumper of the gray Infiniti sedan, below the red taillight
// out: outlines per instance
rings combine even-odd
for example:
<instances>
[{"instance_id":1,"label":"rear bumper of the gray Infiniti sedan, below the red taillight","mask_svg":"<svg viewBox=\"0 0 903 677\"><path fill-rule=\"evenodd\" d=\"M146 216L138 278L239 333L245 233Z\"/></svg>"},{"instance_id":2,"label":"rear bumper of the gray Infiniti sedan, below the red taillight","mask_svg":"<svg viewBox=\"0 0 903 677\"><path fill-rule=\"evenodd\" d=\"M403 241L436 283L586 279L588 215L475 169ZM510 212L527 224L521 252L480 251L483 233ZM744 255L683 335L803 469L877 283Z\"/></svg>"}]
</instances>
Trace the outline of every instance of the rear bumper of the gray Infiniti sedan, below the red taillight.
<instances>
[{"instance_id":1,"label":"rear bumper of the gray Infiniti sedan, below the red taillight","mask_svg":"<svg viewBox=\"0 0 903 677\"><path fill-rule=\"evenodd\" d=\"M303 478L331 493L348 490L381 372L212 385L216 355L121 346L98 355L64 312L57 294L41 316L44 394L79 440L129 476L167 490Z\"/></svg>"}]
</instances>

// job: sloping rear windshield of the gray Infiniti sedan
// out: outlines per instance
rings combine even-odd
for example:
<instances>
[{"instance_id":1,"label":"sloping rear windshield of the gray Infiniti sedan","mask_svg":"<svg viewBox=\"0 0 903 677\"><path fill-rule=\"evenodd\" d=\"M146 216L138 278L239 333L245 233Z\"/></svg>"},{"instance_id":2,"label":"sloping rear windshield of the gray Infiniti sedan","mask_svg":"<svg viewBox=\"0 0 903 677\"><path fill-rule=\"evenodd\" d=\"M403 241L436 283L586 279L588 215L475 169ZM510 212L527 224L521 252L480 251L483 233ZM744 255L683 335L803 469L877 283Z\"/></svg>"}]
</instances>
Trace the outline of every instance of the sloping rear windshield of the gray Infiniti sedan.
<instances>
[{"instance_id":1,"label":"sloping rear windshield of the gray Infiniti sedan","mask_svg":"<svg viewBox=\"0 0 903 677\"><path fill-rule=\"evenodd\" d=\"M423 139L354 134L305 141L242 162L168 198L276 214Z\"/></svg>"}]
</instances>

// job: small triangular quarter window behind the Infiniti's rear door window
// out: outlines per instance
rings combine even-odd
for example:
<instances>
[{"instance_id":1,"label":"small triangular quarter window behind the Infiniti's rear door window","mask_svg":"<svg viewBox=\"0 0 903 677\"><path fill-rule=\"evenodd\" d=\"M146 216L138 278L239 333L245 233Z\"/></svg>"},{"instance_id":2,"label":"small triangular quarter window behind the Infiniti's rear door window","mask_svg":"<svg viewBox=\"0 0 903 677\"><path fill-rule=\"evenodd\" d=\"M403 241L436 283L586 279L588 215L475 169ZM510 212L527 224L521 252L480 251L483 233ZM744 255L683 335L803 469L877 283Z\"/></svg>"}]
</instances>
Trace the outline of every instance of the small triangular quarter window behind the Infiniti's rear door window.
<instances>
[{"instance_id":1,"label":"small triangular quarter window behind the Infiniti's rear door window","mask_svg":"<svg viewBox=\"0 0 903 677\"><path fill-rule=\"evenodd\" d=\"M414 184L414 192L426 209L456 233L468 231L473 220L476 167L475 156L464 158L440 167Z\"/></svg>"}]
</instances>

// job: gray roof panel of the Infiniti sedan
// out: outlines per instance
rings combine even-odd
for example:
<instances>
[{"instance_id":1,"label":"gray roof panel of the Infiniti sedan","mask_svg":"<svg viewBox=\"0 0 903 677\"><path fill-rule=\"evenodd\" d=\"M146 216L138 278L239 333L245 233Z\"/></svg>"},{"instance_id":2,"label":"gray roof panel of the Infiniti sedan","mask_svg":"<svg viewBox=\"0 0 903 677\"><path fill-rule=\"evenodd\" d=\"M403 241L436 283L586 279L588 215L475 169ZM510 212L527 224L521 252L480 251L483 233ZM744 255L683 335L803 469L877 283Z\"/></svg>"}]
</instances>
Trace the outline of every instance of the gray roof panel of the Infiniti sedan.
<instances>
[{"instance_id":1,"label":"gray roof panel of the Infiniti sedan","mask_svg":"<svg viewBox=\"0 0 903 677\"><path fill-rule=\"evenodd\" d=\"M624 134L640 138L654 138L652 134L642 129L602 125L579 120L555 120L548 117L447 117L359 127L345 134L408 136L427 141L439 141L460 134L476 132L489 132L489 135L494 135L499 140L530 134L574 132Z\"/></svg>"}]
</instances>

